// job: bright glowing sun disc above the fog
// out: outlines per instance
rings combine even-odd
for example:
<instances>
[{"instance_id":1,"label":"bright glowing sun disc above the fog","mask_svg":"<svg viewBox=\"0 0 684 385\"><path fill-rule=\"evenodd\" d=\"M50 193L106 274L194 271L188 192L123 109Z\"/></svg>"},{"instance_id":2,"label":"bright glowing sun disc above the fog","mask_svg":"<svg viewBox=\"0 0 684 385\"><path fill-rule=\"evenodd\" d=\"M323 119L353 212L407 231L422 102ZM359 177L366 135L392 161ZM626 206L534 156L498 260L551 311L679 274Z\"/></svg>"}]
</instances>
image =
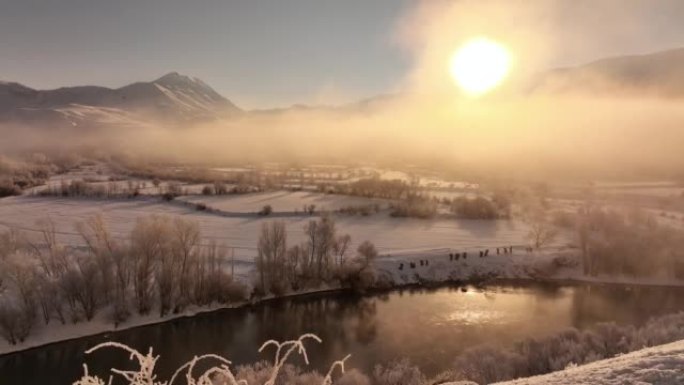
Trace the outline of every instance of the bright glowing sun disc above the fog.
<instances>
[{"instance_id":1,"label":"bright glowing sun disc above the fog","mask_svg":"<svg viewBox=\"0 0 684 385\"><path fill-rule=\"evenodd\" d=\"M484 37L469 40L451 57L451 76L472 96L482 95L501 84L510 70L510 52Z\"/></svg>"}]
</instances>

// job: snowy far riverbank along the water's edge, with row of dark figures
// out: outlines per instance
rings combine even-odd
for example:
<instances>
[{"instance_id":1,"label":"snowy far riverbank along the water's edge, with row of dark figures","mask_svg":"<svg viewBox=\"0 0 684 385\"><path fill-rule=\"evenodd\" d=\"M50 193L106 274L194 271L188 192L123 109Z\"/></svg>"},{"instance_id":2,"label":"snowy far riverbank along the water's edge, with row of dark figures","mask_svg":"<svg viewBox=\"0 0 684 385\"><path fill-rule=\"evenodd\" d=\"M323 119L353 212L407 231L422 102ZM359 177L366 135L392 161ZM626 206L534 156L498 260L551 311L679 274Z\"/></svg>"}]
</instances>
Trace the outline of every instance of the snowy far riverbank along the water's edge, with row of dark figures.
<instances>
[{"instance_id":1,"label":"snowy far riverbank along the water's edge, with row of dark figures","mask_svg":"<svg viewBox=\"0 0 684 385\"><path fill-rule=\"evenodd\" d=\"M482 249L484 250L484 249ZM545 252L527 253L514 248L512 254L504 254L502 250L496 254L496 249L490 249L489 255L480 257L482 250L471 249L459 251L459 259L455 260L455 250L433 249L407 252L395 255L379 257L374 262L374 269L378 281L382 286L371 288L368 292L391 291L406 288L429 288L439 287L445 284L460 283L478 284L483 282L516 282L538 281L554 283L589 283L589 284L616 284L616 285L653 285L653 286L684 286L683 282L607 279L584 277L579 265L574 262L572 249L552 249ZM451 256L450 256L451 254ZM421 263L420 261L423 261ZM414 267L411 267L413 264ZM243 282L247 285L250 282ZM322 286L295 293L288 293L280 297L263 297L256 301L246 301L231 305L216 305L210 307L191 307L183 313L159 317L154 311L149 315L134 315L126 322L115 326L108 319L106 309L100 311L90 322L77 324L58 324L52 322L48 326L36 328L29 338L18 345L10 345L6 341L0 341L0 355L10 354L23 350L38 348L52 343L82 338L86 336L101 335L114 331L127 330L140 326L158 324L176 320L179 318L193 317L198 314L213 312L222 309L235 309L246 306L258 306L267 301L278 300L288 297L300 297L307 295L334 295L337 293L351 292L350 289Z\"/></svg>"}]
</instances>

